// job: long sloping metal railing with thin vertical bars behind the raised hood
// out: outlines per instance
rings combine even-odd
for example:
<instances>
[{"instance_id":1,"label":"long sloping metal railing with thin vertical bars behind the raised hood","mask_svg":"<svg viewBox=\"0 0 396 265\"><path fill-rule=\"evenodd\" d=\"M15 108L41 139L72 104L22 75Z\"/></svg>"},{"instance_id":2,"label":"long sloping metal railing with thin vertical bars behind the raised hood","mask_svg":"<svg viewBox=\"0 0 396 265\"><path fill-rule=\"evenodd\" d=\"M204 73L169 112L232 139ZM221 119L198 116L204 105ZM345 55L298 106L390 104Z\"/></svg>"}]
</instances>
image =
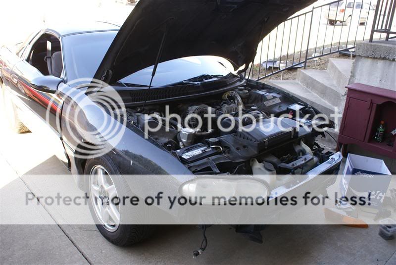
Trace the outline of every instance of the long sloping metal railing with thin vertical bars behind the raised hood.
<instances>
[{"instance_id":1,"label":"long sloping metal railing with thin vertical bars behind the raised hood","mask_svg":"<svg viewBox=\"0 0 396 265\"><path fill-rule=\"evenodd\" d=\"M261 80L284 70L305 68L312 59L353 51L356 41L371 37L371 29L367 25L373 23L379 9L375 3L378 5L380 1L391 1L392 6L396 2L337 0L301 10L264 37L246 76ZM392 22L384 25L392 25ZM372 37L378 38L381 33L378 29Z\"/></svg>"}]
</instances>

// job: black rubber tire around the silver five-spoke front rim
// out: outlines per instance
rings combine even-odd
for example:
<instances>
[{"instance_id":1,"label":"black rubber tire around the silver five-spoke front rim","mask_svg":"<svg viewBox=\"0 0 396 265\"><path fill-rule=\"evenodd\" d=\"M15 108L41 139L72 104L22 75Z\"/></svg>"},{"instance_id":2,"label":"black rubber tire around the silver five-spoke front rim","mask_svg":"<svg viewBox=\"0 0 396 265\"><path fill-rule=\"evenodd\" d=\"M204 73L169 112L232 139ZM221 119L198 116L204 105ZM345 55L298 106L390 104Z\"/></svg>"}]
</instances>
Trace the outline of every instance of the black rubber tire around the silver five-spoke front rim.
<instances>
[{"instance_id":1,"label":"black rubber tire around the silver five-spoke front rim","mask_svg":"<svg viewBox=\"0 0 396 265\"><path fill-rule=\"evenodd\" d=\"M96 166L100 165L106 169L106 171L111 175L112 181L117 189L118 196L131 196L132 192L131 189L126 182L125 178L121 176L121 172L118 166L114 163L114 161L107 155L104 155L100 158L89 159L86 163L84 174L89 176L91 173L91 169ZM90 195L90 181L87 177L85 180L86 191L87 194ZM111 232L108 231L104 225L100 224L99 218L95 213L93 202L91 199L88 200L88 205L91 211L91 215L98 227L99 232L102 236L107 239L110 243L116 246L130 246L135 243L138 243L146 238L148 238L154 231L153 225L134 225L134 224L125 224L130 223L128 220L125 221L127 218L130 218L134 214L140 214L137 212L132 212L133 207L130 205L122 206L120 204L121 211L120 211L120 224L117 230ZM124 224L123 224L124 223Z\"/></svg>"}]
</instances>

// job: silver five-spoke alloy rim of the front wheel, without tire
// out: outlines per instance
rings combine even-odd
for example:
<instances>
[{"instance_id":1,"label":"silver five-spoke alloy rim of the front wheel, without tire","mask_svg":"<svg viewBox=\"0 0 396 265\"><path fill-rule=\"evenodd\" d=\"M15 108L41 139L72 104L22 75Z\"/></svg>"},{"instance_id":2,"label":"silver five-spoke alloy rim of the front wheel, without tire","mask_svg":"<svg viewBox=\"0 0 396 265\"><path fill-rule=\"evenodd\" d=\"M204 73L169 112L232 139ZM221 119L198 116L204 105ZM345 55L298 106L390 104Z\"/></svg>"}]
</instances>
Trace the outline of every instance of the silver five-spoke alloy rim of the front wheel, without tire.
<instances>
[{"instance_id":1,"label":"silver five-spoke alloy rim of the front wheel, without tire","mask_svg":"<svg viewBox=\"0 0 396 265\"><path fill-rule=\"evenodd\" d=\"M90 196L94 211L106 230L114 232L120 224L119 197L114 182L101 165L90 172Z\"/></svg>"}]
</instances>

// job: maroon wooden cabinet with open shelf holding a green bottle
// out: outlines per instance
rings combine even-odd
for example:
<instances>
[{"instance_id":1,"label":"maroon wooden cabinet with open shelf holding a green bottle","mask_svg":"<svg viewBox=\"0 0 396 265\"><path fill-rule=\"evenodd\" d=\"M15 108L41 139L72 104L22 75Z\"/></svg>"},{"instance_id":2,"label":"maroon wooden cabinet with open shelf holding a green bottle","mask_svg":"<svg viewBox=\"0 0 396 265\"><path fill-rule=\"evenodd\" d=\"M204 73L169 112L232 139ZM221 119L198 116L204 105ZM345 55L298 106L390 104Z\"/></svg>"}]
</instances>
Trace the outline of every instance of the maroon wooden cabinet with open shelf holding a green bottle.
<instances>
[{"instance_id":1,"label":"maroon wooden cabinet with open shelf holding a green bottle","mask_svg":"<svg viewBox=\"0 0 396 265\"><path fill-rule=\"evenodd\" d=\"M347 156L347 145L355 144L379 155L396 159L396 139L390 134L396 128L396 92L359 83L348 85L347 89L338 137L343 156ZM381 120L385 121L385 140L377 143L374 135ZM389 141L393 146L388 145Z\"/></svg>"}]
</instances>

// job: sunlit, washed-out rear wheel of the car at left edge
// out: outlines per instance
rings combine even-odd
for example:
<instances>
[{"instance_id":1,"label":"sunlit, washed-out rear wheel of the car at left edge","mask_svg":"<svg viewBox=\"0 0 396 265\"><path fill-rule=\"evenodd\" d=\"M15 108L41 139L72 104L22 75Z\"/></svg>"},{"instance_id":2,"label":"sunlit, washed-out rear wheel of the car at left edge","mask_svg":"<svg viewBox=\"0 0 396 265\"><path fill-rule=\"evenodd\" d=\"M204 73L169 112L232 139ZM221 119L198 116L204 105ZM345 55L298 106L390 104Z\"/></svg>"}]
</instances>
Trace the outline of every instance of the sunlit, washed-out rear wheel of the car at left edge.
<instances>
[{"instance_id":1,"label":"sunlit, washed-out rear wheel of the car at left edge","mask_svg":"<svg viewBox=\"0 0 396 265\"><path fill-rule=\"evenodd\" d=\"M4 85L1 85L1 93L3 99L4 115L8 121L8 127L12 132L24 133L28 132L29 129L22 123L18 117L18 112L15 104L12 102L12 98L9 91L5 90Z\"/></svg>"}]
</instances>

